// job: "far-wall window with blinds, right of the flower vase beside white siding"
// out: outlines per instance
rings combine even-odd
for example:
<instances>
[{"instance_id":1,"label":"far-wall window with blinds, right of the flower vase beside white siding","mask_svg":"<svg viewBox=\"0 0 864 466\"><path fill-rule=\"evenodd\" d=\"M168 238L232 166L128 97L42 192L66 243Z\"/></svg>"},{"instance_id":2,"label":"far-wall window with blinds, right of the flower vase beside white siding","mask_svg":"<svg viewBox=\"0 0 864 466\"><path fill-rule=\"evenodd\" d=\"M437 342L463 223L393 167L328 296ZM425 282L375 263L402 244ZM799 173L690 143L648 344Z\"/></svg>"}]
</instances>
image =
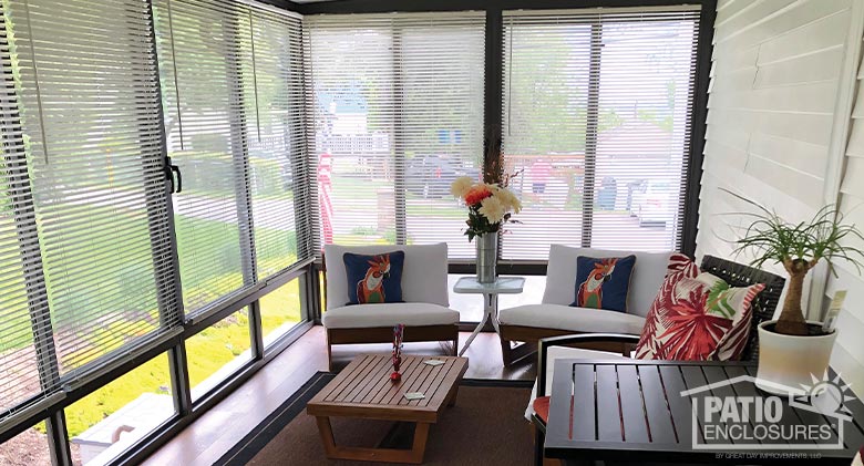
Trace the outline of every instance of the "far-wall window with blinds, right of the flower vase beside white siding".
<instances>
[{"instance_id":1,"label":"far-wall window with blinds, right of the flower vase beside white siding","mask_svg":"<svg viewBox=\"0 0 864 466\"><path fill-rule=\"evenodd\" d=\"M680 247L698 8L504 12L502 258Z\"/></svg>"}]
</instances>

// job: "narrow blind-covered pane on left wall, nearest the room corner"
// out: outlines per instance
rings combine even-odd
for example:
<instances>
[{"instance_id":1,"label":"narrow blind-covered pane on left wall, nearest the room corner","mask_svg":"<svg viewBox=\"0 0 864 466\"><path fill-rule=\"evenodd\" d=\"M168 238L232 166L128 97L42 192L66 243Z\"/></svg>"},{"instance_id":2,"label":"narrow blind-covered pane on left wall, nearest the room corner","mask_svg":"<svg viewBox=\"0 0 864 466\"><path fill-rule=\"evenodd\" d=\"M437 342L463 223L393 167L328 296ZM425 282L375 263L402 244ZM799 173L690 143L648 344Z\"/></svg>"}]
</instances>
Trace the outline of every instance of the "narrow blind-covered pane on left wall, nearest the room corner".
<instances>
[{"instance_id":1,"label":"narrow blind-covered pane on left wall, nearest the room corner","mask_svg":"<svg viewBox=\"0 0 864 466\"><path fill-rule=\"evenodd\" d=\"M302 23L250 10L254 104L246 120L259 278L310 256L311 189L304 132ZM248 89L248 86L247 86Z\"/></svg>"}]
</instances>

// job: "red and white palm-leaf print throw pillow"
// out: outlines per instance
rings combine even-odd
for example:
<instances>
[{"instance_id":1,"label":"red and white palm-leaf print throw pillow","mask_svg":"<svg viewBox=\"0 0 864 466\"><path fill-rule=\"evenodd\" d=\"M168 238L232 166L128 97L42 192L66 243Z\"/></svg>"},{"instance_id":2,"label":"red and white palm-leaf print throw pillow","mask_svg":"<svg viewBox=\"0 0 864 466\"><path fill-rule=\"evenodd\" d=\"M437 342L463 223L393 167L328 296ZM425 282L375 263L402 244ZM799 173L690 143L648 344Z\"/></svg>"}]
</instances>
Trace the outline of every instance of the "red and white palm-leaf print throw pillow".
<instances>
[{"instance_id":1,"label":"red and white palm-leaf print throw pillow","mask_svg":"<svg viewBox=\"0 0 864 466\"><path fill-rule=\"evenodd\" d=\"M686 266L669 273L646 317L637 359L732 361L741 358L750 333L751 302L764 284L731 288Z\"/></svg>"}]
</instances>

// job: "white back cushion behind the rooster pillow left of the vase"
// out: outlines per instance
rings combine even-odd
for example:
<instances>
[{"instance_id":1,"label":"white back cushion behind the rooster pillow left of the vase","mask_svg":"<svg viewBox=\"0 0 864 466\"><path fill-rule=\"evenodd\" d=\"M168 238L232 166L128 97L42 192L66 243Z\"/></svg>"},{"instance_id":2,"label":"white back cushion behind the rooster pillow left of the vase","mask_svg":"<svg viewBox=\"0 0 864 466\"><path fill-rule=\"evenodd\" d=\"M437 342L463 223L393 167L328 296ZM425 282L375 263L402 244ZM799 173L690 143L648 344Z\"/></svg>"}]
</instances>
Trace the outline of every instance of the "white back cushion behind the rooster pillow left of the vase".
<instances>
[{"instance_id":1,"label":"white back cushion behind the rooster pillow left of the vase","mask_svg":"<svg viewBox=\"0 0 864 466\"><path fill-rule=\"evenodd\" d=\"M342 256L346 252L359 255L380 255L391 251L404 251L402 268L402 300L405 302L428 302L443 308L450 306L448 298L448 245L411 246L325 246L327 267L327 309L344 306L348 298L348 277ZM354 283L356 286L356 283Z\"/></svg>"}]
</instances>

